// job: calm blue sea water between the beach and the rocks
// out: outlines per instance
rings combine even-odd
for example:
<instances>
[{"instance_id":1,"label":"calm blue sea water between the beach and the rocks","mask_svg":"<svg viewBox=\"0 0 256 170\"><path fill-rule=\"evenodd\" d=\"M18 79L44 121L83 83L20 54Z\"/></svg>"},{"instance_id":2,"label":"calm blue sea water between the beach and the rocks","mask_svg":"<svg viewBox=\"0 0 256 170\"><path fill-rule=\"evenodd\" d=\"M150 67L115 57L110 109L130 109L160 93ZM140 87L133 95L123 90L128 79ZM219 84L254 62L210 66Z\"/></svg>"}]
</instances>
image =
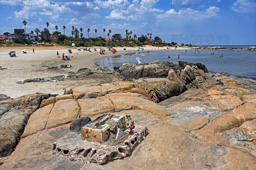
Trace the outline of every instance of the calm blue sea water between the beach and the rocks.
<instances>
[{"instance_id":1,"label":"calm blue sea water between the beach and the rocks","mask_svg":"<svg viewBox=\"0 0 256 170\"><path fill-rule=\"evenodd\" d=\"M235 47L234 47L235 48ZM198 52L200 52L198 54ZM214 52L214 54L212 54ZM168 58L170 54L171 58ZM180 54L180 58L177 56ZM221 54L223 57L220 58ZM134 54L104 57L97 61L99 67L113 68L123 63L150 63L154 60L165 60L178 64L178 61L201 62L209 72L224 72L234 76L256 78L256 51L230 50L187 50L186 51L138 51Z\"/></svg>"}]
</instances>

